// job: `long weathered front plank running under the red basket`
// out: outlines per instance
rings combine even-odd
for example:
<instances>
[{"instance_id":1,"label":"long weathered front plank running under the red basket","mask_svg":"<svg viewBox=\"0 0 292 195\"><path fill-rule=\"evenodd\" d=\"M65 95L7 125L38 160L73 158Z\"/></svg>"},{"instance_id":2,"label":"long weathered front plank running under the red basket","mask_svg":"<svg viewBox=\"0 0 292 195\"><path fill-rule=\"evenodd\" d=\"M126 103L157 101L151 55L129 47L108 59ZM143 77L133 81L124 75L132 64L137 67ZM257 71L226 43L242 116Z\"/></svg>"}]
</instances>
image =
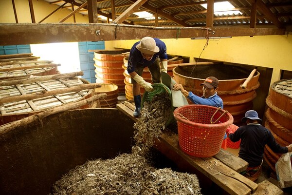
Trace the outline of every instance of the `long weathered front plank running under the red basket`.
<instances>
[{"instance_id":1,"label":"long weathered front plank running under the red basket","mask_svg":"<svg viewBox=\"0 0 292 195\"><path fill-rule=\"evenodd\" d=\"M256 191L256 183L230 169L216 158L198 158L185 154L180 149L177 139L177 135L173 132L166 132L158 138L156 144L165 156L170 159L178 159L179 156L181 160L189 163L231 195L250 195ZM163 147L168 148L168 152L165 153ZM172 154L169 151L172 151Z\"/></svg>"}]
</instances>

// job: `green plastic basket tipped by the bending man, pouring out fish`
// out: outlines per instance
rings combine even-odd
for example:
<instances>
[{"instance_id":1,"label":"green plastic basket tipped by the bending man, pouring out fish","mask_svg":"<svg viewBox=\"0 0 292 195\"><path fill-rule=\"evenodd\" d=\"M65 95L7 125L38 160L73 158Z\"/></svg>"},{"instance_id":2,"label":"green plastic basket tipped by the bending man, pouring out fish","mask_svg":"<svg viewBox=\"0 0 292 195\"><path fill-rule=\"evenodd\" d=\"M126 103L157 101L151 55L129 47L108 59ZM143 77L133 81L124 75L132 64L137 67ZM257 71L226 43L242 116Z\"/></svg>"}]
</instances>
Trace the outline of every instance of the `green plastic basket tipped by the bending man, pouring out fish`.
<instances>
[{"instance_id":1,"label":"green plastic basket tipped by the bending man, pouring out fish","mask_svg":"<svg viewBox=\"0 0 292 195\"><path fill-rule=\"evenodd\" d=\"M164 85L162 83L154 83L151 86L153 87L153 91L144 93L143 98L142 98L141 107L143 108L144 102L151 101L156 95L167 92L167 94L170 98L170 101L171 101L171 108L170 108L171 114L169 115L169 118L165 123L165 127L166 127L167 125L169 125L170 123L175 121L174 116L173 116L174 107L172 106L171 91L166 85Z\"/></svg>"}]
</instances>

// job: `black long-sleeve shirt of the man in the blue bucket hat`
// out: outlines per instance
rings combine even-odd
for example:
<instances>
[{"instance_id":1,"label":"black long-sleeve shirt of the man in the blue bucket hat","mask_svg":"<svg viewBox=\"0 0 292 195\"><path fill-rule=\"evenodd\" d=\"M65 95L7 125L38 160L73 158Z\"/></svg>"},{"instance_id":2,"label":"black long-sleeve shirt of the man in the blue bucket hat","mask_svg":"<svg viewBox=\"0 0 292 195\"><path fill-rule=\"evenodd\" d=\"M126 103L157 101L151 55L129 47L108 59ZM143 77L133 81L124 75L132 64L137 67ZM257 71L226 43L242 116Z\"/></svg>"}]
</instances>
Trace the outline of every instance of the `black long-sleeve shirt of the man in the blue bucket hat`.
<instances>
[{"instance_id":1,"label":"black long-sleeve shirt of the man in the blue bucket hat","mask_svg":"<svg viewBox=\"0 0 292 195\"><path fill-rule=\"evenodd\" d=\"M274 139L272 133L258 123L249 123L240 126L234 134L229 134L231 141L240 141L239 157L249 163L249 167L259 166L267 144L275 153L285 154L287 147L281 147Z\"/></svg>"}]
</instances>

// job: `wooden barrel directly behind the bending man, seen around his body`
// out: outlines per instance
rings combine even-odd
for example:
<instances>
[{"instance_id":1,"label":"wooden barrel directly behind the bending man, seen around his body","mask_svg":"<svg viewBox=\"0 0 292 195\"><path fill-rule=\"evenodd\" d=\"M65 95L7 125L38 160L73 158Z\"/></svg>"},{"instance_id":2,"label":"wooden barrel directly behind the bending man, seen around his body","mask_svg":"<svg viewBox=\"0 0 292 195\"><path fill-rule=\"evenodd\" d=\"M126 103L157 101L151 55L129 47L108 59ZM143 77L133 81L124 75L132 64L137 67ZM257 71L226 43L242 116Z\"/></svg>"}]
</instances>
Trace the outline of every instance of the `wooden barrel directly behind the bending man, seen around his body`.
<instances>
[{"instance_id":1,"label":"wooden barrel directly behind the bending man, seen around his body","mask_svg":"<svg viewBox=\"0 0 292 195\"><path fill-rule=\"evenodd\" d=\"M172 70L173 70L174 66L169 66L169 65L183 63L183 59L180 57L170 56L170 55L168 55L167 58L168 58L167 74L172 76ZM131 83L131 77L128 74L127 67L128 67L128 57L125 57L124 58L124 65L123 65L124 76L125 76L125 79L124 79L125 90L126 90L125 93L126 93L126 98L129 100L129 99L133 99L133 92L132 92L133 84ZM143 70L142 77L145 79L146 82L150 82L150 83L152 82L151 74L147 68L145 68ZM140 91L141 91L141 95L143 96L145 89L140 86Z\"/></svg>"}]
</instances>

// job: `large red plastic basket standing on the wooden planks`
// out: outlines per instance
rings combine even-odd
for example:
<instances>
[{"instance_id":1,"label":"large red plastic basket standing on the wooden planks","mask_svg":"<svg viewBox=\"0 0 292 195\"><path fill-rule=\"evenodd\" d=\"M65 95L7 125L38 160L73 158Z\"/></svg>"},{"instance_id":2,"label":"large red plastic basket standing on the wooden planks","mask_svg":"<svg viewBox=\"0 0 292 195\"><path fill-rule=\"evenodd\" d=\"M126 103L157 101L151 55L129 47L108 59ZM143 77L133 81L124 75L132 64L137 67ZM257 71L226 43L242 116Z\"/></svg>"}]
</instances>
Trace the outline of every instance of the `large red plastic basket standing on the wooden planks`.
<instances>
[{"instance_id":1,"label":"large red plastic basket standing on the wooden planks","mask_svg":"<svg viewBox=\"0 0 292 195\"><path fill-rule=\"evenodd\" d=\"M186 154L196 157L217 155L226 128L233 123L233 117L230 113L206 105L181 106L174 110L173 115L178 121L181 149ZM213 119L212 123L218 121L212 124L211 118Z\"/></svg>"}]
</instances>

